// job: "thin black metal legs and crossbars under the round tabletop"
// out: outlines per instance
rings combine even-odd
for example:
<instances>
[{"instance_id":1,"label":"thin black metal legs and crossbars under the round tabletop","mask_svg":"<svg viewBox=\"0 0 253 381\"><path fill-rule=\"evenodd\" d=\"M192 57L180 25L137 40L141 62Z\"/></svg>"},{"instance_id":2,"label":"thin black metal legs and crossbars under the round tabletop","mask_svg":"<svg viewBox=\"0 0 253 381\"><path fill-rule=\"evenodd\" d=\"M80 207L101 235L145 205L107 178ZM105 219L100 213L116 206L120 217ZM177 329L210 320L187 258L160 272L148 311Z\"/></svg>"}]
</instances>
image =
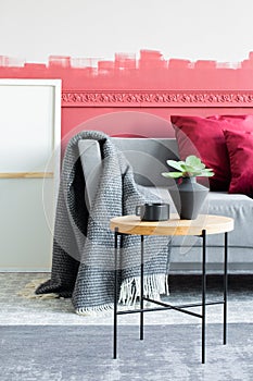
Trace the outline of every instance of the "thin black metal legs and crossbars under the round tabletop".
<instances>
[{"instance_id":1,"label":"thin black metal legs and crossbars under the round tabletop","mask_svg":"<svg viewBox=\"0 0 253 381\"><path fill-rule=\"evenodd\" d=\"M222 234L222 233L218 233ZM144 235L140 235L141 238L141 254L140 254L140 308L139 309L128 309L128 310L117 310L117 297L118 297L118 268L117 268L117 257L118 257L118 236L119 241L119 255L123 248L123 236L128 235L126 233L118 232L118 228L114 230L114 329L113 329L113 358L117 358L117 316L126 314L140 314L140 340L144 337L144 312L159 311L159 310L177 310L179 312L188 314L202 319L202 364L205 364L205 325L206 325L206 310L205 307L208 305L224 305L224 321L223 321L223 344L227 344L227 290L228 290L228 232L225 232L224 241L224 274L223 274L223 287L224 297L223 300L206 302L206 231L203 230L200 237L202 237L202 302L194 304L186 304L174 306L164 302L154 300L143 295L143 275L144 275ZM160 307L144 308L144 300L151 302ZM202 306L202 314L195 314L193 311L187 310L191 307Z\"/></svg>"}]
</instances>

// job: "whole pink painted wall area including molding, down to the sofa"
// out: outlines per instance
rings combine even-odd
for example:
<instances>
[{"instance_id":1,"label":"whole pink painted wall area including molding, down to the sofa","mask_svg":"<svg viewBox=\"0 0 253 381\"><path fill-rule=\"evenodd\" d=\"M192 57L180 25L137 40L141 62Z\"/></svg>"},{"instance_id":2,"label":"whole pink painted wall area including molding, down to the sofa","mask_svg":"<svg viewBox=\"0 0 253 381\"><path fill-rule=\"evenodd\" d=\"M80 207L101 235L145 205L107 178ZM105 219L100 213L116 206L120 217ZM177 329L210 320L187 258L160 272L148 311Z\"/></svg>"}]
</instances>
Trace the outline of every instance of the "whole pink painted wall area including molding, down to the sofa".
<instances>
[{"instance_id":1,"label":"whole pink painted wall area including molding, down to the sofa","mask_svg":"<svg viewBox=\"0 0 253 381\"><path fill-rule=\"evenodd\" d=\"M62 137L80 130L110 135L162 137L176 113L252 113L253 53L236 67L215 61L165 60L141 50L137 60L116 53L92 65L88 59L50 57L48 64L18 64L0 57L2 78L61 78Z\"/></svg>"}]
</instances>

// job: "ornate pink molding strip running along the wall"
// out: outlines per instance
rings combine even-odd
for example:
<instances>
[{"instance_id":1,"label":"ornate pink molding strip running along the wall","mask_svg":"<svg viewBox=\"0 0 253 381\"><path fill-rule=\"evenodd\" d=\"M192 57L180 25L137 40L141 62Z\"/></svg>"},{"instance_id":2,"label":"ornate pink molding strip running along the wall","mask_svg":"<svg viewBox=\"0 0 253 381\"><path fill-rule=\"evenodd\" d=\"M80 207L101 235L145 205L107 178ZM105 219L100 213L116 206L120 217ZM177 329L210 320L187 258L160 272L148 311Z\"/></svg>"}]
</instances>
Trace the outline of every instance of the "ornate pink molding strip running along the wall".
<instances>
[{"instance_id":1,"label":"ornate pink molding strip running along the wall","mask_svg":"<svg viewBox=\"0 0 253 381\"><path fill-rule=\"evenodd\" d=\"M62 107L253 107L253 90L63 90Z\"/></svg>"}]
</instances>

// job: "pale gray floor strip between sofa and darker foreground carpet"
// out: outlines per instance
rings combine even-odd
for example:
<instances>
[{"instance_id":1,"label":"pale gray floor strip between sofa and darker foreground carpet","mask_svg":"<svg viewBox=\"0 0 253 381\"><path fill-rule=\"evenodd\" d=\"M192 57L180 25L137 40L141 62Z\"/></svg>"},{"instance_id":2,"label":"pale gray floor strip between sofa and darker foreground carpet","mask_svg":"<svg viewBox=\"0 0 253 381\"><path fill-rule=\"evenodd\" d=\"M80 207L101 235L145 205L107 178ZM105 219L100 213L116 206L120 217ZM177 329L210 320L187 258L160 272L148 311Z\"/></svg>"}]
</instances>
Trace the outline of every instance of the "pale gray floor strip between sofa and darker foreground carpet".
<instances>
[{"instance_id":1,"label":"pale gray floor strip between sofa and darker foreground carpet","mask_svg":"<svg viewBox=\"0 0 253 381\"><path fill-rule=\"evenodd\" d=\"M47 280L48 273L0 273L0 324L112 324L112 312L106 315L77 316L73 309L71 299L59 298L26 298L24 290L27 284L35 281ZM253 276L230 275L228 293L228 322L253 322ZM165 297L173 304L200 300L200 278L197 276L170 276L170 295ZM34 286L35 288L35 286ZM207 297L222 296L222 280L219 276L207 276ZM222 322L222 306L207 307L207 323ZM197 309L195 309L197 310ZM121 316L119 324L137 324L138 316ZM200 319L178 314L176 311L162 311L146 314L147 324L181 324L200 323Z\"/></svg>"}]
</instances>

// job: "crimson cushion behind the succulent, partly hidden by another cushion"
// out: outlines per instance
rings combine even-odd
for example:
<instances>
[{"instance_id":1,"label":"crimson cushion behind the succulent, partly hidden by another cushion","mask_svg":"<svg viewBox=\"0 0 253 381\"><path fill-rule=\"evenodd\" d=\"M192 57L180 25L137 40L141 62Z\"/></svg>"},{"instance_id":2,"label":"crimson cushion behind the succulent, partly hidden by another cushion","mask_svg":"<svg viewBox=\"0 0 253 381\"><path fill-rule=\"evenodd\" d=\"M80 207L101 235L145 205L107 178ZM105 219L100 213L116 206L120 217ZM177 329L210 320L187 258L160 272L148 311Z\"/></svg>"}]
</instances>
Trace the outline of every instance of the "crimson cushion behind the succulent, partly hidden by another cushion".
<instances>
[{"instance_id":1,"label":"crimson cushion behind the succulent, partly hidden by another cushion","mask_svg":"<svg viewBox=\"0 0 253 381\"><path fill-rule=\"evenodd\" d=\"M199 156L207 168L214 170L215 175L210 177L211 189L228 190L231 174L223 131L253 131L253 115L172 115L170 121L176 131L181 160L189 155Z\"/></svg>"}]
</instances>

